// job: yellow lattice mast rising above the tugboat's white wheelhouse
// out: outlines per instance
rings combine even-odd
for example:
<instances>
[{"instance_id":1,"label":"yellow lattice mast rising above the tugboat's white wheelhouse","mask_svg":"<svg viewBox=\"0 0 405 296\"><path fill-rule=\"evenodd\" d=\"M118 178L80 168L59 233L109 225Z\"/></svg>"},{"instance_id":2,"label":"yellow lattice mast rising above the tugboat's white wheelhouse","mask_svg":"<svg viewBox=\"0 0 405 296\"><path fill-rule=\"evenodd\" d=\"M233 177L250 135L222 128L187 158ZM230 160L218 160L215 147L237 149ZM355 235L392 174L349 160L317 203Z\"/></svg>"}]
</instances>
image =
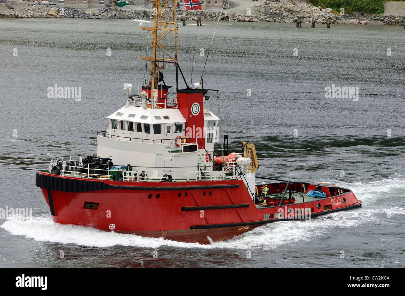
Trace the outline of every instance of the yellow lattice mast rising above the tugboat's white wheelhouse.
<instances>
[{"instance_id":1,"label":"yellow lattice mast rising above the tugboat's white wheelhouse","mask_svg":"<svg viewBox=\"0 0 405 296\"><path fill-rule=\"evenodd\" d=\"M169 62L177 63L177 29L176 24L176 5L178 0L150 0L152 2L152 14L154 16L153 27L140 27L142 30L152 32L151 57L138 57L150 61L151 76L151 98L153 98L154 89L158 87L159 70L164 69L164 66ZM162 3L161 3L162 2ZM168 6L173 4L173 10ZM172 20L173 19L173 20ZM166 35L170 32L175 32L175 56L169 54L165 47Z\"/></svg>"}]
</instances>

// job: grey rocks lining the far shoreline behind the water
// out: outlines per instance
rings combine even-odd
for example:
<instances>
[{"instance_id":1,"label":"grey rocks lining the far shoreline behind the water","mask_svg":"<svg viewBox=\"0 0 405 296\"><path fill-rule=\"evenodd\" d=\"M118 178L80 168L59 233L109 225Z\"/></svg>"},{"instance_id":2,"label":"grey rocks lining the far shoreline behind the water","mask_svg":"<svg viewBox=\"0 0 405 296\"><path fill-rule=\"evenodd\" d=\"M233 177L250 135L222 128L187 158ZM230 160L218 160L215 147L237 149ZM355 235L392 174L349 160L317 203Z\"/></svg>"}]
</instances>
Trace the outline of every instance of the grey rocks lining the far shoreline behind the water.
<instances>
[{"instance_id":1,"label":"grey rocks lining the far shoreline behind the water","mask_svg":"<svg viewBox=\"0 0 405 296\"><path fill-rule=\"evenodd\" d=\"M10 3L8 3L10 6ZM91 9L91 8L71 8L59 5L42 5L32 2L21 3L13 2L13 9L6 7L5 3L0 3L0 18L36 18L36 17L64 17L80 19L149 19L150 12L146 10L123 10L117 7ZM239 14L231 11L177 11L177 19L185 17L188 21L196 20L201 17L202 20L221 21L244 21L244 22L276 22L293 23L301 19L302 23L326 23L329 19L337 24L357 24L362 17L369 18L368 15L341 16L332 13L331 8L315 7L313 4L297 2L291 4L287 0L280 2L263 1L258 4L252 4L252 14ZM353 19L355 18L355 19ZM405 17L373 15L370 21L376 24L403 25Z\"/></svg>"}]
</instances>

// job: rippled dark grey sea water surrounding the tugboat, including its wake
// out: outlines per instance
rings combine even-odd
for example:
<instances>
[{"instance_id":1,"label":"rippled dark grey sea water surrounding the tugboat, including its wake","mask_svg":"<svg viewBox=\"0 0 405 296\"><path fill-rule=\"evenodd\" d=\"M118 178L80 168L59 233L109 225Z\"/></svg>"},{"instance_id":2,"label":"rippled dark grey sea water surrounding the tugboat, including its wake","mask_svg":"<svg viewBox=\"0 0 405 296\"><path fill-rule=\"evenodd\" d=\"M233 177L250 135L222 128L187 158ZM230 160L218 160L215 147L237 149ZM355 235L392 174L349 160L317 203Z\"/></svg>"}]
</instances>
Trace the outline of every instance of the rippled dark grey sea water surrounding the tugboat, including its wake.
<instances>
[{"instance_id":1,"label":"rippled dark grey sea water surrounding the tugboat, including its wake","mask_svg":"<svg viewBox=\"0 0 405 296\"><path fill-rule=\"evenodd\" d=\"M123 84L142 85L147 32L130 20L1 19L0 208L32 208L33 219L0 220L0 267L405 267L403 28L220 24L204 81L220 89L229 150L252 142L257 175L338 184L363 207L212 245L53 224L35 173L52 156L96 152L96 132L125 104ZM179 27L189 84L214 30ZM167 84L174 73L164 70ZM81 100L48 98L55 84L81 87ZM332 85L358 87L358 100L326 98ZM217 114L215 95L205 107Z\"/></svg>"}]
</instances>

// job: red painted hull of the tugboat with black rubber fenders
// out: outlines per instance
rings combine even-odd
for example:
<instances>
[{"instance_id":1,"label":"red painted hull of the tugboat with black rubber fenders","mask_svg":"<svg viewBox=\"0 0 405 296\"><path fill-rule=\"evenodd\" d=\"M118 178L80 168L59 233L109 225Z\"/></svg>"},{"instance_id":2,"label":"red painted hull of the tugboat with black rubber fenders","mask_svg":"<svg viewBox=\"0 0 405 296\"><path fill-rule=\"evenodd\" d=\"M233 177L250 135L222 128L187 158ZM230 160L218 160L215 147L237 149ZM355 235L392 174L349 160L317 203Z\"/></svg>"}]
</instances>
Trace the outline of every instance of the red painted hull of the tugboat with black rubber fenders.
<instances>
[{"instance_id":1,"label":"red painted hull of the tugboat with black rubber fenders","mask_svg":"<svg viewBox=\"0 0 405 296\"><path fill-rule=\"evenodd\" d=\"M288 214L290 208L292 213L302 209L302 214L310 209L314 217L361 206L350 190L333 198L257 209L242 180L174 183L85 180L79 182L102 182L104 189L69 190L68 186L76 186L75 179L37 174L37 186L42 188L54 222L193 243L230 239L262 224L279 221L280 208L286 210L280 218L294 219L294 215ZM57 186L60 181L67 181L67 189L61 183ZM84 208L86 203L97 208Z\"/></svg>"}]
</instances>

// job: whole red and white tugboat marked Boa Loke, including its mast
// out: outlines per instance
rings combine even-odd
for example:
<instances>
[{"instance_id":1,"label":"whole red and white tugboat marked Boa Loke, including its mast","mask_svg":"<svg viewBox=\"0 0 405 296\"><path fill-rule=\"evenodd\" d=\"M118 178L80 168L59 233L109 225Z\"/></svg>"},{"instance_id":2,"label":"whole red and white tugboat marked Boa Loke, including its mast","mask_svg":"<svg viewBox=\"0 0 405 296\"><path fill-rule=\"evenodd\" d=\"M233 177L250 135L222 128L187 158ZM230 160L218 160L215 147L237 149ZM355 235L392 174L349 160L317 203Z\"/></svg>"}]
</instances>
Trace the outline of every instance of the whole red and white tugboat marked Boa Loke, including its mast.
<instances>
[{"instance_id":1,"label":"whole red and white tugboat marked Boa Loke, including its mast","mask_svg":"<svg viewBox=\"0 0 405 296\"><path fill-rule=\"evenodd\" d=\"M149 84L145 80L138 95L124 85L126 106L107 117L109 129L98 132L97 154L53 158L47 171L36 173L54 222L211 243L266 223L361 207L346 188L256 177L253 144L244 142L241 152L229 156L222 148L216 155L220 118L203 103L208 91L217 90L205 89L202 78L192 89L184 79L177 61L177 0L152 2L154 26L140 27L152 32L152 56L139 57L150 62ZM174 54L165 46L171 32ZM160 72L169 63L176 70L173 97ZM256 178L262 201L255 198ZM314 190L324 198L306 195Z\"/></svg>"}]
</instances>

